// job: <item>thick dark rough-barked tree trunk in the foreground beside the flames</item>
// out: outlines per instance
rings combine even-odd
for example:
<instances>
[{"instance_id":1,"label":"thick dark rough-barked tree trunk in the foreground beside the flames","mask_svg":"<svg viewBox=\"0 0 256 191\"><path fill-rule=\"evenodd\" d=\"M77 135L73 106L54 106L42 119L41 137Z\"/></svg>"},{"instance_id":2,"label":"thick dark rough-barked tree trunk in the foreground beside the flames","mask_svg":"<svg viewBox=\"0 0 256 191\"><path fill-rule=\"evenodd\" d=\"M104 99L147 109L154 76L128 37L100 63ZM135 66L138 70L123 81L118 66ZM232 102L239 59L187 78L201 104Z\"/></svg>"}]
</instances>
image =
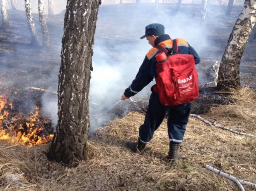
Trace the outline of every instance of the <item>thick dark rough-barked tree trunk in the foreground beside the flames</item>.
<instances>
[{"instance_id":1,"label":"thick dark rough-barked tree trunk in the foreground beside the flames","mask_svg":"<svg viewBox=\"0 0 256 191\"><path fill-rule=\"evenodd\" d=\"M48 153L50 160L68 164L86 159L90 126L88 96L100 4L100 0L67 1L58 86L58 123Z\"/></svg>"}]
</instances>

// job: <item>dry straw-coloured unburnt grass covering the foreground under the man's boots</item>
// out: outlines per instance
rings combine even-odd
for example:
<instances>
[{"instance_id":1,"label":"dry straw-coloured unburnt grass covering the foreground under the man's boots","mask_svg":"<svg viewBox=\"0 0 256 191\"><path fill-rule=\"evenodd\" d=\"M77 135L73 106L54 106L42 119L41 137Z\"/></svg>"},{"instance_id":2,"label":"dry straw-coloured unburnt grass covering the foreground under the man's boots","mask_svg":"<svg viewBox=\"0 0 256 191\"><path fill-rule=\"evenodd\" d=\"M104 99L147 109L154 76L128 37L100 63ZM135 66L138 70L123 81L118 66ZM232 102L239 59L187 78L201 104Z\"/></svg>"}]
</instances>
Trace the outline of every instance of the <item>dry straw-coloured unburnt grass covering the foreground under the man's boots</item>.
<instances>
[{"instance_id":1,"label":"dry straw-coloured unburnt grass covering the foreground under the man's boots","mask_svg":"<svg viewBox=\"0 0 256 191\"><path fill-rule=\"evenodd\" d=\"M202 117L219 125L255 133L256 93L244 88L232 98L236 104L212 107ZM230 101L227 100L227 101ZM88 160L65 167L46 159L48 145L27 148L0 143L0 189L10 191L105 191L105 190L239 190L237 185L205 169L212 165L223 172L256 184L256 139L210 127L190 118L180 162L166 160L166 120L147 145L143 155L123 145L137 140L144 114L128 113L109 123L88 141ZM22 174L23 175L19 175ZM12 180L8 181L8 178ZM256 190L244 186L246 191Z\"/></svg>"}]
</instances>

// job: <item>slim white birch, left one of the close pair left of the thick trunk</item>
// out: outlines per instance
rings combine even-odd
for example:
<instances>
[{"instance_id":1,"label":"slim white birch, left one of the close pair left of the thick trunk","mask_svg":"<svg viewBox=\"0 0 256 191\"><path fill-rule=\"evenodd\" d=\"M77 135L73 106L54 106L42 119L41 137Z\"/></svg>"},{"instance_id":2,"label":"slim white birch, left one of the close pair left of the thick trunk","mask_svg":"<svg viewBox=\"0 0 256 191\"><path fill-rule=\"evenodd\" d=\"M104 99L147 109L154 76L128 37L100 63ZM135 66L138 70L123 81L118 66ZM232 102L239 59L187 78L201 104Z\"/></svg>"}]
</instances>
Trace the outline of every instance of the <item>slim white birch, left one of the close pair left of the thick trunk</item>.
<instances>
[{"instance_id":1,"label":"slim white birch, left one of the close pair left of the thick trunk","mask_svg":"<svg viewBox=\"0 0 256 191\"><path fill-rule=\"evenodd\" d=\"M31 12L31 3L30 0L25 0L25 8L28 19L29 32L31 36L31 45L39 45L38 36L36 34L36 28L34 24L34 19Z\"/></svg>"}]
</instances>

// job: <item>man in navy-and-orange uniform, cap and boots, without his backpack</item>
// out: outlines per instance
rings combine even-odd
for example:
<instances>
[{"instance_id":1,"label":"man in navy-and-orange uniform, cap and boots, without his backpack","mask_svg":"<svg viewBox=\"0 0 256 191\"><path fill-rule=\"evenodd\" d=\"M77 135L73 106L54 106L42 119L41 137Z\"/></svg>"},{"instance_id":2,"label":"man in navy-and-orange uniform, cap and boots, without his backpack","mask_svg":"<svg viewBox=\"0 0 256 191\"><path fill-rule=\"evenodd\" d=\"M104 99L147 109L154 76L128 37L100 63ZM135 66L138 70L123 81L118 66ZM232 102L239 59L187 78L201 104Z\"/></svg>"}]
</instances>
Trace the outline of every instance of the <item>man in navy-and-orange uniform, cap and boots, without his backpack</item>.
<instances>
[{"instance_id":1,"label":"man in navy-and-orange uniform, cap and boots, without his backpack","mask_svg":"<svg viewBox=\"0 0 256 191\"><path fill-rule=\"evenodd\" d=\"M172 41L169 35L164 34L164 26L162 24L150 24L145 28L145 35L140 39L146 38L148 43L153 47L149 50L145 59L140 66L140 69L133 80L132 84L125 90L121 100L129 99L140 92L148 85L153 78L157 78L156 70L156 54L160 51L155 48L157 45L162 45L167 50L171 50ZM176 40L178 53L191 54L195 59L195 64L200 62L200 58L196 51L188 42L178 38ZM155 86L155 85L154 85ZM147 142L149 142L154 132L161 125L166 113L168 112L168 135L169 135L169 154L167 159L169 162L176 163L178 158L178 146L182 143L188 123L189 114L191 111L191 103L184 103L175 106L164 106L159 101L159 94L154 92L155 88L151 87L152 94L150 95L145 121L139 128L139 137L137 142L127 141L126 146L134 152L143 152Z\"/></svg>"}]
</instances>

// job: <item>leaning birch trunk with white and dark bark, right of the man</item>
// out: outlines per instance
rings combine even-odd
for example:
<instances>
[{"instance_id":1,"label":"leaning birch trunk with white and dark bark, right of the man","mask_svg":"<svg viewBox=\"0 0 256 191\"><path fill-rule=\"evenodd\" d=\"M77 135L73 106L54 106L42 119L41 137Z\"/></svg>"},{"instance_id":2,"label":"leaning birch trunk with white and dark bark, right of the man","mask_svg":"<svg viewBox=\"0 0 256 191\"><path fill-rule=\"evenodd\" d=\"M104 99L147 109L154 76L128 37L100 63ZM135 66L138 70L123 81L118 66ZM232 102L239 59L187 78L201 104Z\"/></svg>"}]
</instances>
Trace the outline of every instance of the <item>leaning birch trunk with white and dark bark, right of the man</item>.
<instances>
[{"instance_id":1,"label":"leaning birch trunk with white and dark bark, right of the man","mask_svg":"<svg viewBox=\"0 0 256 191\"><path fill-rule=\"evenodd\" d=\"M245 0L220 62L217 87L240 87L239 67L246 43L256 21L256 0Z\"/></svg>"}]
</instances>

